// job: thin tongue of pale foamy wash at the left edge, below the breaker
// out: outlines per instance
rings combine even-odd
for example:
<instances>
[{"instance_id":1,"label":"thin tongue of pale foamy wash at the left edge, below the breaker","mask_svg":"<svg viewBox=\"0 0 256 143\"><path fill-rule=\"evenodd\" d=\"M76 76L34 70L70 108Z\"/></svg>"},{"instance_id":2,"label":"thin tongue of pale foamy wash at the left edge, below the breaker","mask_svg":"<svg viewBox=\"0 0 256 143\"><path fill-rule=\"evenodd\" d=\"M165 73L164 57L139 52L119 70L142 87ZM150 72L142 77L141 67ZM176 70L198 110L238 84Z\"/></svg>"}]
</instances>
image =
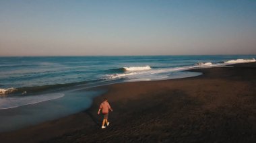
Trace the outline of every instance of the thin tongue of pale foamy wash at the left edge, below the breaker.
<instances>
[{"instance_id":1,"label":"thin tongue of pale foamy wash at the left edge, below the breaker","mask_svg":"<svg viewBox=\"0 0 256 143\"><path fill-rule=\"evenodd\" d=\"M52 93L52 94L23 96L23 97L1 97L0 109L9 109L14 107L20 107L23 105L40 103L43 101L58 99L63 96L64 96L63 93Z\"/></svg>"}]
</instances>

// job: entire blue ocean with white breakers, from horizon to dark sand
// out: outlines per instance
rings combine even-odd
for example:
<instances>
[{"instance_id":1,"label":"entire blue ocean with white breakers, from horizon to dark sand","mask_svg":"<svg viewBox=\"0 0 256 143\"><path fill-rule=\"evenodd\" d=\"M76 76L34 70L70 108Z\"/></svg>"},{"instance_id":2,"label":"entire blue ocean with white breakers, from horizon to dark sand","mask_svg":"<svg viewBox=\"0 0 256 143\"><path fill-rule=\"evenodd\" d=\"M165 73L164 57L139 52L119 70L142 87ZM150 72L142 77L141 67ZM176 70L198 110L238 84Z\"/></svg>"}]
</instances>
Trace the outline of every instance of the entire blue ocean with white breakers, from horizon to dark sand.
<instances>
[{"instance_id":1,"label":"entire blue ocean with white breakers, from horizon to dark sand","mask_svg":"<svg viewBox=\"0 0 256 143\"><path fill-rule=\"evenodd\" d=\"M0 57L0 132L87 109L106 91L92 87L194 77L185 71L241 62L256 55Z\"/></svg>"}]
</instances>

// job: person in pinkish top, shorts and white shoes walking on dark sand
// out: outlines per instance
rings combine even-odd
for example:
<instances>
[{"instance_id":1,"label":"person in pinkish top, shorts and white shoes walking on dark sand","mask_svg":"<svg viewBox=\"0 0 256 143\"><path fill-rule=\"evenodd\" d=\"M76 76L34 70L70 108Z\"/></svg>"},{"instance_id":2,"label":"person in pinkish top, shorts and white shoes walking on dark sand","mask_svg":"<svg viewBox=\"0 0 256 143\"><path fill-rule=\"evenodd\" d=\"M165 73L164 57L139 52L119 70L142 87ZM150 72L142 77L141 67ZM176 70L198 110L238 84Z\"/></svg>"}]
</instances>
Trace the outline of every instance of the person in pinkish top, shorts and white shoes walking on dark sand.
<instances>
[{"instance_id":1,"label":"person in pinkish top, shorts and white shoes walking on dark sand","mask_svg":"<svg viewBox=\"0 0 256 143\"><path fill-rule=\"evenodd\" d=\"M103 115L103 121L102 121L102 126L101 128L104 129L106 126L109 125L108 122L108 110L113 111L113 109L110 107L108 103L108 99L104 98L104 101L100 104L100 109L98 109L98 115L100 115L100 110L102 110L102 115ZM106 126L104 126L106 123Z\"/></svg>"}]
</instances>

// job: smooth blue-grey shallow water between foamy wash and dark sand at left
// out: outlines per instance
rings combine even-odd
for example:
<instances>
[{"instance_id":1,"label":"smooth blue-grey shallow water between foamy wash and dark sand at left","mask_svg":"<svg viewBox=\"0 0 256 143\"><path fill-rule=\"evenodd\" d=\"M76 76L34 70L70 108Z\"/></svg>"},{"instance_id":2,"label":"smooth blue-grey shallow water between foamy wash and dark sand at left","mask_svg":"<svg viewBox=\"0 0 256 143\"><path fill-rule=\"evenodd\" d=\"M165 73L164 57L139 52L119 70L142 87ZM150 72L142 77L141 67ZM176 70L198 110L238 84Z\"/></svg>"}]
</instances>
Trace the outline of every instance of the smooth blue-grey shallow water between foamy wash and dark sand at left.
<instances>
[{"instance_id":1,"label":"smooth blue-grey shallow water between foamy wash and dark sand at left","mask_svg":"<svg viewBox=\"0 0 256 143\"><path fill-rule=\"evenodd\" d=\"M55 120L66 115L84 111L92 104L92 99L105 91L72 91L55 93L64 95L57 99L42 101L20 107L0 110L0 132L25 128L44 121Z\"/></svg>"}]
</instances>

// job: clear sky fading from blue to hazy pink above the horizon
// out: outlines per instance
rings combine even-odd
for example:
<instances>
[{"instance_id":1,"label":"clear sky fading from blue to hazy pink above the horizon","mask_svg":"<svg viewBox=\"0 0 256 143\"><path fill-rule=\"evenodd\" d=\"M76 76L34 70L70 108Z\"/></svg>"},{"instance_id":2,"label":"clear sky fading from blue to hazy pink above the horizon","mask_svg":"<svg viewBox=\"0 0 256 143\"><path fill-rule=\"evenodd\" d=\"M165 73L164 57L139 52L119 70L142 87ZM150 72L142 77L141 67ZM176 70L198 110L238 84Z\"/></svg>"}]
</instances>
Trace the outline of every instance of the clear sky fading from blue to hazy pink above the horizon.
<instances>
[{"instance_id":1,"label":"clear sky fading from blue to hazy pink above the horizon","mask_svg":"<svg viewBox=\"0 0 256 143\"><path fill-rule=\"evenodd\" d=\"M0 1L0 56L186 54L256 54L256 1Z\"/></svg>"}]
</instances>

